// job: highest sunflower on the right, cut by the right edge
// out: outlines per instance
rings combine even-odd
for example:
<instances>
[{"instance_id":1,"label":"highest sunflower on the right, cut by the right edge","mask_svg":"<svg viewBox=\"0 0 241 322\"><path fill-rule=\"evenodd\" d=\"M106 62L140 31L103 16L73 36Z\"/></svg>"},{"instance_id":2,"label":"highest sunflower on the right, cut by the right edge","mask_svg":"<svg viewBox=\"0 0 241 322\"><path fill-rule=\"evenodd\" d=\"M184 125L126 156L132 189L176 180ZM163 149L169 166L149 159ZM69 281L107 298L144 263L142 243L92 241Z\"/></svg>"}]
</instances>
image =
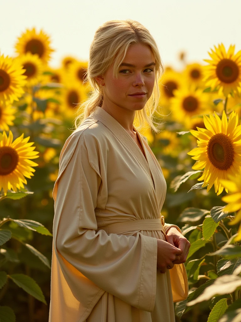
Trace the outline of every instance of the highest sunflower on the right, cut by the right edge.
<instances>
[{"instance_id":1,"label":"highest sunflower on the right, cut by the right edge","mask_svg":"<svg viewBox=\"0 0 241 322\"><path fill-rule=\"evenodd\" d=\"M241 86L241 50L234 55L235 45L230 45L228 52L221 43L212 53L208 52L212 60L204 59L209 65L204 68L204 81L211 89L216 87L219 93L227 97L230 92L238 92Z\"/></svg>"}]
</instances>

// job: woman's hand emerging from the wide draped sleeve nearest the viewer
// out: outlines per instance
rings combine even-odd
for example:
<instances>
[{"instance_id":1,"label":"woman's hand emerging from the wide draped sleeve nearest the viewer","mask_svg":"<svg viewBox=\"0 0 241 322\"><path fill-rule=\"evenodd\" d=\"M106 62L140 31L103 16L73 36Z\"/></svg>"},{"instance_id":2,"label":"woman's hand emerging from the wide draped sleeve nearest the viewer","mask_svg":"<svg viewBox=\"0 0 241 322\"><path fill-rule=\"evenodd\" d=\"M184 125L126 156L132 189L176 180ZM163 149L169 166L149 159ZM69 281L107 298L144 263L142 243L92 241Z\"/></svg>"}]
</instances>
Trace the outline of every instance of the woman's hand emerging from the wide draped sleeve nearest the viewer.
<instances>
[{"instance_id":1,"label":"woman's hand emerging from the wide draped sleeve nearest the viewer","mask_svg":"<svg viewBox=\"0 0 241 322\"><path fill-rule=\"evenodd\" d=\"M157 264L156 267L163 273L166 272L167 266L173 268L174 261L179 260L183 251L169 242L157 239Z\"/></svg>"}]
</instances>

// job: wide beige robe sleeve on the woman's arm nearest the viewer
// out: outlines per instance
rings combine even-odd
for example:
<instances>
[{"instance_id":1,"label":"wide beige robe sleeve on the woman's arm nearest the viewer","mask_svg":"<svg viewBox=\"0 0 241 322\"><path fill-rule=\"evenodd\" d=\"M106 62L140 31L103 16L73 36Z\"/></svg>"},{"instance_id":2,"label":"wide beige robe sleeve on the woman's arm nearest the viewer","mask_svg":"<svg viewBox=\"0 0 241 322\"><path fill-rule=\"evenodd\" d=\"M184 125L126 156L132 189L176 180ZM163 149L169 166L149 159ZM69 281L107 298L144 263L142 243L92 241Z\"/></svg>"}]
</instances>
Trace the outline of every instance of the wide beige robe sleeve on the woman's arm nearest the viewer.
<instances>
[{"instance_id":1,"label":"wide beige robe sleeve on the woman's arm nearest the viewer","mask_svg":"<svg viewBox=\"0 0 241 322\"><path fill-rule=\"evenodd\" d=\"M69 140L60 161L60 168L62 160L65 168L58 178L55 202L55 216L59 219L53 229L56 250L101 289L152 312L156 298L157 240L140 232L135 236L96 232L95 208L106 181L105 172L98 166L102 154L97 147L88 149L88 140L92 138L85 131L74 135L78 135L74 140L76 147Z\"/></svg>"}]
</instances>

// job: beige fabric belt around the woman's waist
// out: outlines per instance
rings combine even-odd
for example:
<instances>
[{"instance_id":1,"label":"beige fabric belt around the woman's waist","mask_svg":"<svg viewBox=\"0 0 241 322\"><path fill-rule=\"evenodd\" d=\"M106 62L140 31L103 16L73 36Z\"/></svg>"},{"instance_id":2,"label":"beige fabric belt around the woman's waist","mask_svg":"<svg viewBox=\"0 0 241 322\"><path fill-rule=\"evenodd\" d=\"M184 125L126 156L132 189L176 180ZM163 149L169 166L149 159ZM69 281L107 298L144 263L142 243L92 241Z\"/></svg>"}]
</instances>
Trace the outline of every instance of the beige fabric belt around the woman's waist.
<instances>
[{"instance_id":1,"label":"beige fabric belt around the woman's waist","mask_svg":"<svg viewBox=\"0 0 241 322\"><path fill-rule=\"evenodd\" d=\"M99 230L103 229L108 234L121 234L135 230L161 230L165 233L163 228L164 223L164 216L162 216L162 218L159 219L137 219L112 223L107 226L98 227L96 231L98 232Z\"/></svg>"}]
</instances>

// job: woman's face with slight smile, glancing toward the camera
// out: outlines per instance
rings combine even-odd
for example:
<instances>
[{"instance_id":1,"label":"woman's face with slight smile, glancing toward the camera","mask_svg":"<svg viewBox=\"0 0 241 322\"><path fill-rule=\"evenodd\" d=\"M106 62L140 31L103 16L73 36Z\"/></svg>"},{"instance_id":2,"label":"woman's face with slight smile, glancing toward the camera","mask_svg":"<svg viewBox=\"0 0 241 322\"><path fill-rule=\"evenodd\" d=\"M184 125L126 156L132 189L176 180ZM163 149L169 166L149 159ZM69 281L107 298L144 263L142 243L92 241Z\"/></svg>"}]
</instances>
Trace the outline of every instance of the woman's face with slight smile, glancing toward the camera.
<instances>
[{"instance_id":1,"label":"woman's face with slight smile, glancing toward the camera","mask_svg":"<svg viewBox=\"0 0 241 322\"><path fill-rule=\"evenodd\" d=\"M111 107L114 104L129 110L143 109L155 84L155 57L151 48L140 43L130 45L119 67L118 78L113 77L112 65L103 75L102 83L104 105ZM142 97L132 96L136 92L145 94Z\"/></svg>"}]
</instances>

